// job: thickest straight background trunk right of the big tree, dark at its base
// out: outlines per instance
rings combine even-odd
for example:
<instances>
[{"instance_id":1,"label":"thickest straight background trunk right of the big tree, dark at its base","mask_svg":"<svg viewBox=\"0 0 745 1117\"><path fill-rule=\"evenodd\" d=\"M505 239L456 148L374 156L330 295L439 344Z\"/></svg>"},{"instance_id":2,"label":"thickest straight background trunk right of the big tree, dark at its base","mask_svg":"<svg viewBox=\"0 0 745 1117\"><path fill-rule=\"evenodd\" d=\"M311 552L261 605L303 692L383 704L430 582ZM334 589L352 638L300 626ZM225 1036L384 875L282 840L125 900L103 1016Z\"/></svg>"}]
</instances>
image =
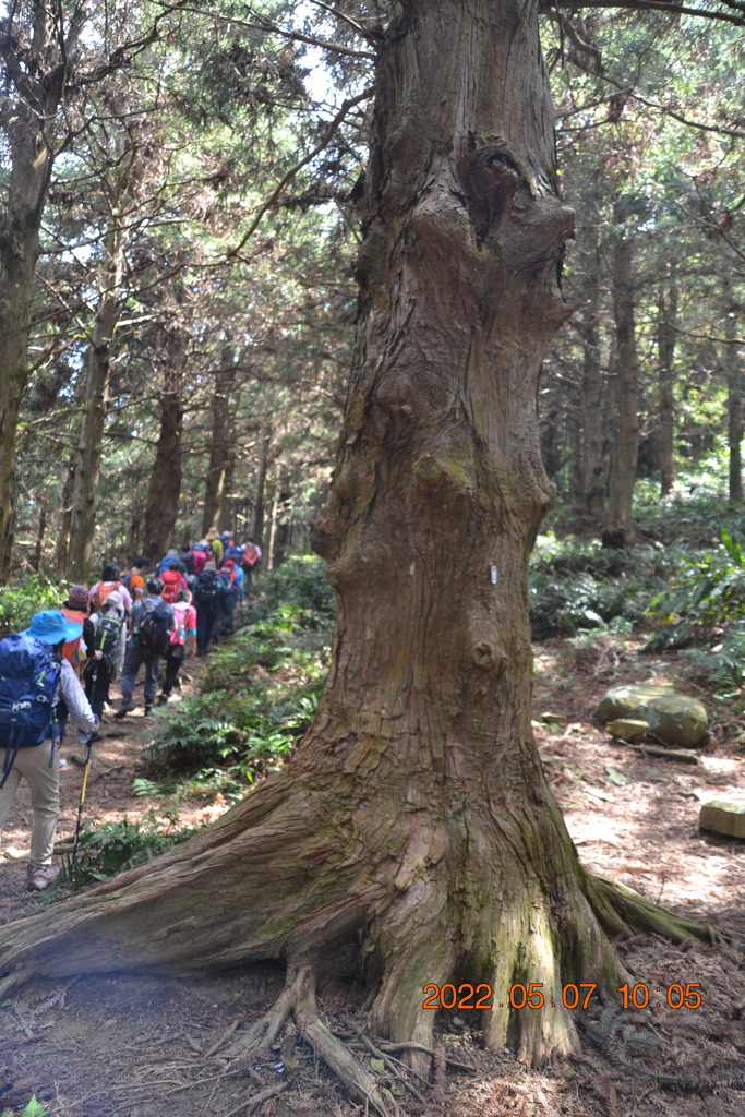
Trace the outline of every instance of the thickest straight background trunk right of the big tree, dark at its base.
<instances>
[{"instance_id":1,"label":"thickest straight background trunk right of the big tree, dark at its base","mask_svg":"<svg viewBox=\"0 0 745 1117\"><path fill-rule=\"evenodd\" d=\"M611 469L603 543L625 547L633 543L631 502L639 457L639 356L633 318L633 240L619 235L613 254L613 313L618 338L619 435Z\"/></svg>"}]
</instances>

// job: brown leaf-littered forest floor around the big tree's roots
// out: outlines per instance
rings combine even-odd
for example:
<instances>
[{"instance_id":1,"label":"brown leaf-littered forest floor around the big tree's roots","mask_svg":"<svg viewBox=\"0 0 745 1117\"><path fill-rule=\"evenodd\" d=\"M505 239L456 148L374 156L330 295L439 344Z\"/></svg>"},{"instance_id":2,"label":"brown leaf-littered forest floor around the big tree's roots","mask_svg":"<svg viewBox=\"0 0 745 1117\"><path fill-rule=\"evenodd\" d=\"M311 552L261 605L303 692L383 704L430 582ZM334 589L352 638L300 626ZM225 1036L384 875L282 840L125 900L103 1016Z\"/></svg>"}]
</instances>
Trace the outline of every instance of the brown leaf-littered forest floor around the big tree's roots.
<instances>
[{"instance_id":1,"label":"brown leaf-littered forest floor around the big tree's roots","mask_svg":"<svg viewBox=\"0 0 745 1117\"><path fill-rule=\"evenodd\" d=\"M697 798L745 787L738 726L715 723L697 766L640 755L602 731L598 703L622 681L670 681L696 694L687 660L640 656L628 642L610 639L595 643L585 658L566 641L536 645L535 655L536 737L583 863L723 935L745 935L745 841L699 832ZM556 717L546 722L546 713ZM86 817L135 819L150 805L132 793L133 779L143 774L142 709L123 725L107 718L104 732L105 741L95 746ZM68 739L64 755L76 752L82 754ZM82 768L68 764L61 773L60 836L74 831L80 781ZM180 813L185 822L210 820L222 810L218 802L182 806ZM23 890L29 822L21 791L3 836L0 923L49 903L47 894ZM745 954L724 944L678 947L655 936L636 936L615 947L655 1005L651 1013L630 1010L624 1021L628 1050L634 1038L657 1044L639 1068L687 1078L745 1075ZM700 1009L668 1008L665 991L674 983L698 983ZM0 1102L20 1108L36 1094L60 1117L362 1115L363 1107L348 1100L303 1043L295 1049L292 1080L281 1062L275 1065L279 1054L228 1071L241 1034L281 985L281 968L261 965L189 980L96 975L55 986L51 995L48 987L25 992L1 1006ZM322 1006L340 1034L353 1037L361 1025L363 995L354 987L326 991ZM408 1096L400 1081L391 1082L409 1117L745 1117L745 1090L663 1088L642 1070L625 1072L586 1042L581 1056L528 1071L508 1050L485 1052L468 1020L441 1016L438 1046L447 1059L472 1070L449 1069L447 1077L440 1071L433 1087L419 1082L423 1101ZM366 1059L369 1052L359 1057ZM281 1092L271 1096L273 1090ZM252 1107L259 1094L265 1100Z\"/></svg>"}]
</instances>

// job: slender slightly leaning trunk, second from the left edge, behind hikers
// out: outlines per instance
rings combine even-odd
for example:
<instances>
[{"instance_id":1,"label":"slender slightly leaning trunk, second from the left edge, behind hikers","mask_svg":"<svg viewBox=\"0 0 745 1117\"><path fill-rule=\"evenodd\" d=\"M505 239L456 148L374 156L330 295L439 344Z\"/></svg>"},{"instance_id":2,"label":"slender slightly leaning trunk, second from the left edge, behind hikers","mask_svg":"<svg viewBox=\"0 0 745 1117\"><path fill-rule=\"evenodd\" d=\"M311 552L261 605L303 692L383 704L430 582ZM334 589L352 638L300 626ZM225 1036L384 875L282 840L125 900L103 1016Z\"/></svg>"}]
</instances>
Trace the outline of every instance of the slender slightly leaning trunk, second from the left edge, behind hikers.
<instances>
[{"instance_id":1,"label":"slender slightly leaning trunk, second from the left edge, behind hikers","mask_svg":"<svg viewBox=\"0 0 745 1117\"><path fill-rule=\"evenodd\" d=\"M80 424L70 510L70 542L67 555L67 577L87 583L93 562L96 527L96 499L101 479L104 423L108 410L108 383L112 371L114 330L122 306L122 276L126 233L118 225L106 238L101 284L101 298L90 331L87 352L86 398Z\"/></svg>"}]
</instances>

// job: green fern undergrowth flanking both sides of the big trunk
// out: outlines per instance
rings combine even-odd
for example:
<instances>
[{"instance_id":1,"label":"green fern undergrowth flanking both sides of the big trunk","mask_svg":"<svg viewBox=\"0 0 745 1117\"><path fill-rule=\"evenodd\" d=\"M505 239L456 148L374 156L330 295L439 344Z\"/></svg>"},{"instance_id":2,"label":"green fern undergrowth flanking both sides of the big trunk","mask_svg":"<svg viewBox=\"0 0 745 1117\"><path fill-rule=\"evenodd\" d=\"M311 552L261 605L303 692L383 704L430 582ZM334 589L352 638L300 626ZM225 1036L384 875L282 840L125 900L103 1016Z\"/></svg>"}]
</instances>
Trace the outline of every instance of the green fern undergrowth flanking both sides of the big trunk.
<instances>
[{"instance_id":1,"label":"green fern undergrowth flanking both sides of the big trunk","mask_svg":"<svg viewBox=\"0 0 745 1117\"><path fill-rule=\"evenodd\" d=\"M745 514L705 481L694 478L663 500L641 487L643 533L623 551L564 534L555 522L531 563L534 639L633 637L642 650L685 648L703 679L736 698L745 661ZM150 779L137 781L139 793L170 802L220 793L233 802L281 766L313 719L333 621L319 558L293 556L266 577L194 695L156 712L144 754Z\"/></svg>"}]
</instances>

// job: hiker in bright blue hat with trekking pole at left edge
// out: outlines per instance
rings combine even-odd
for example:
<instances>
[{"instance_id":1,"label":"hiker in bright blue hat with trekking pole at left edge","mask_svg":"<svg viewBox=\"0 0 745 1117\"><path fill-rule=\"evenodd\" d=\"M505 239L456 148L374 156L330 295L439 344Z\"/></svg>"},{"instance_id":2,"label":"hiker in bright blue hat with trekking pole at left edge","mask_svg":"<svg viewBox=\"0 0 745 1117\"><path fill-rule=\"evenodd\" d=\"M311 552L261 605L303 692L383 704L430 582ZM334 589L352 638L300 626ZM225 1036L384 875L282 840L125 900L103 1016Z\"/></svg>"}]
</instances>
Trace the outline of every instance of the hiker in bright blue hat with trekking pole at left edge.
<instances>
[{"instance_id":1,"label":"hiker in bright blue hat with trekking pole at left edge","mask_svg":"<svg viewBox=\"0 0 745 1117\"><path fill-rule=\"evenodd\" d=\"M66 620L61 610L45 609L23 632L0 640L0 745L6 750L0 838L22 776L31 792L29 892L41 891L59 872L51 863L59 817L58 703L65 701L79 729L98 728L75 671L61 655L63 645L82 634L82 626Z\"/></svg>"}]
</instances>

